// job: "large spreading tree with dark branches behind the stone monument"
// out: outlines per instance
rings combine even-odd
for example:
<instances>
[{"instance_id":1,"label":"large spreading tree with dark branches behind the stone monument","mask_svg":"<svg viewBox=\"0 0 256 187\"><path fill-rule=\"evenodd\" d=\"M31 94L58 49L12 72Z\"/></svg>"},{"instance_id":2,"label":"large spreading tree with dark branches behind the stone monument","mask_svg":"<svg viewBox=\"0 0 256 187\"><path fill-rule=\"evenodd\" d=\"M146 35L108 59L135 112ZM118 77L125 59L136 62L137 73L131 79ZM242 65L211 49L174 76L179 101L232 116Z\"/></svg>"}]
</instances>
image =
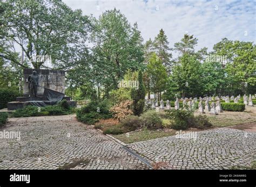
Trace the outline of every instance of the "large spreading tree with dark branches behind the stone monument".
<instances>
[{"instance_id":1,"label":"large spreading tree with dark branches behind the stone monument","mask_svg":"<svg viewBox=\"0 0 256 187\"><path fill-rule=\"evenodd\" d=\"M90 21L82 10L73 11L59 0L10 0L3 6L4 40L14 41L29 60L49 55L53 67L66 69L86 48ZM26 67L9 51L0 52L0 56ZM44 67L44 62L31 61L34 68Z\"/></svg>"}]
</instances>

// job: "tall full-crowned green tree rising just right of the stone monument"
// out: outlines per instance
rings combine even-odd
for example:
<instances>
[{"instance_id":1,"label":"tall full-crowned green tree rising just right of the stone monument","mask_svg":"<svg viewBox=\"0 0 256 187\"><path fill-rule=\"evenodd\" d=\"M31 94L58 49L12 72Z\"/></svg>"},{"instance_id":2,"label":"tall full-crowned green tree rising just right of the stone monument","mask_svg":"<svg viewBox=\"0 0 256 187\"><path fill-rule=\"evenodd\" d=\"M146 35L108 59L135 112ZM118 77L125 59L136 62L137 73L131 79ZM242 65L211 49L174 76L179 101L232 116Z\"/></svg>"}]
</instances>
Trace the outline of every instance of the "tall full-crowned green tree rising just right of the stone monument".
<instances>
[{"instance_id":1,"label":"tall full-crowned green tree rising just right of the stone monument","mask_svg":"<svg viewBox=\"0 0 256 187\"><path fill-rule=\"evenodd\" d=\"M105 11L94 21L93 56L99 59L98 71L107 80L106 87L117 88L126 70L143 68L143 45L137 24L133 26L119 10ZM92 65L93 66L93 65Z\"/></svg>"}]
</instances>

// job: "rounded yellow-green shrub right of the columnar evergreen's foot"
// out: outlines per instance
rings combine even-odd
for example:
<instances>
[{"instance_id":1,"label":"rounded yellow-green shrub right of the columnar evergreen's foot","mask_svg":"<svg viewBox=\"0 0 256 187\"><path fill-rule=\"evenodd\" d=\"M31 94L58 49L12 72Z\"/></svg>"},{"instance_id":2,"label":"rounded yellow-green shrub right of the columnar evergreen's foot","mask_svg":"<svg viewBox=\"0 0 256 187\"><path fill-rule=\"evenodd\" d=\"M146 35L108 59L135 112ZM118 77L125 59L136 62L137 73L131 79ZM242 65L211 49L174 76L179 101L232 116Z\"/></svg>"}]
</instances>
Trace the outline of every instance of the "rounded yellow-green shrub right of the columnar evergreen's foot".
<instances>
[{"instance_id":1,"label":"rounded yellow-green shrub right of the columnar evergreen's foot","mask_svg":"<svg viewBox=\"0 0 256 187\"><path fill-rule=\"evenodd\" d=\"M156 130L158 128L163 128L162 120L156 111L148 111L142 114L140 117L143 126L147 127L149 130Z\"/></svg>"}]
</instances>

